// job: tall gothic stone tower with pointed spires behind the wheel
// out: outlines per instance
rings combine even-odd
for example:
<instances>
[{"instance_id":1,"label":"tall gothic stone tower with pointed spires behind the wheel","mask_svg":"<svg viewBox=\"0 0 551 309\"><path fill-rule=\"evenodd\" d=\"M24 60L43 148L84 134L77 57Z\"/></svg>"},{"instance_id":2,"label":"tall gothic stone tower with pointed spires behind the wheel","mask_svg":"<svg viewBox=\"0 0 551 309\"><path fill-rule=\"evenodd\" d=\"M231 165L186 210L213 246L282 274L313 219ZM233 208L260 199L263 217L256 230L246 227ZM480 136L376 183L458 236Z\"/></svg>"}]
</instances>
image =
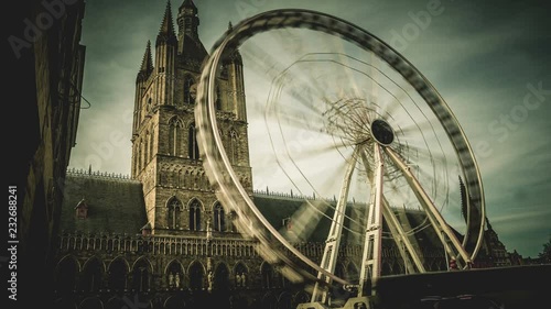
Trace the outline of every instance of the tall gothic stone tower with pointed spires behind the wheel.
<instances>
[{"instance_id":1,"label":"tall gothic stone tower with pointed spires behind the wheel","mask_svg":"<svg viewBox=\"0 0 551 309\"><path fill-rule=\"evenodd\" d=\"M132 135L132 177L143 184L153 234L205 231L217 207L195 139L195 89L207 52L198 40L197 9L184 1L175 34L170 3L155 41L148 42L137 77ZM235 54L217 80L217 118L234 165L250 181L242 64ZM190 218L197 207L196 218ZM191 227L191 229L190 229Z\"/></svg>"}]
</instances>

